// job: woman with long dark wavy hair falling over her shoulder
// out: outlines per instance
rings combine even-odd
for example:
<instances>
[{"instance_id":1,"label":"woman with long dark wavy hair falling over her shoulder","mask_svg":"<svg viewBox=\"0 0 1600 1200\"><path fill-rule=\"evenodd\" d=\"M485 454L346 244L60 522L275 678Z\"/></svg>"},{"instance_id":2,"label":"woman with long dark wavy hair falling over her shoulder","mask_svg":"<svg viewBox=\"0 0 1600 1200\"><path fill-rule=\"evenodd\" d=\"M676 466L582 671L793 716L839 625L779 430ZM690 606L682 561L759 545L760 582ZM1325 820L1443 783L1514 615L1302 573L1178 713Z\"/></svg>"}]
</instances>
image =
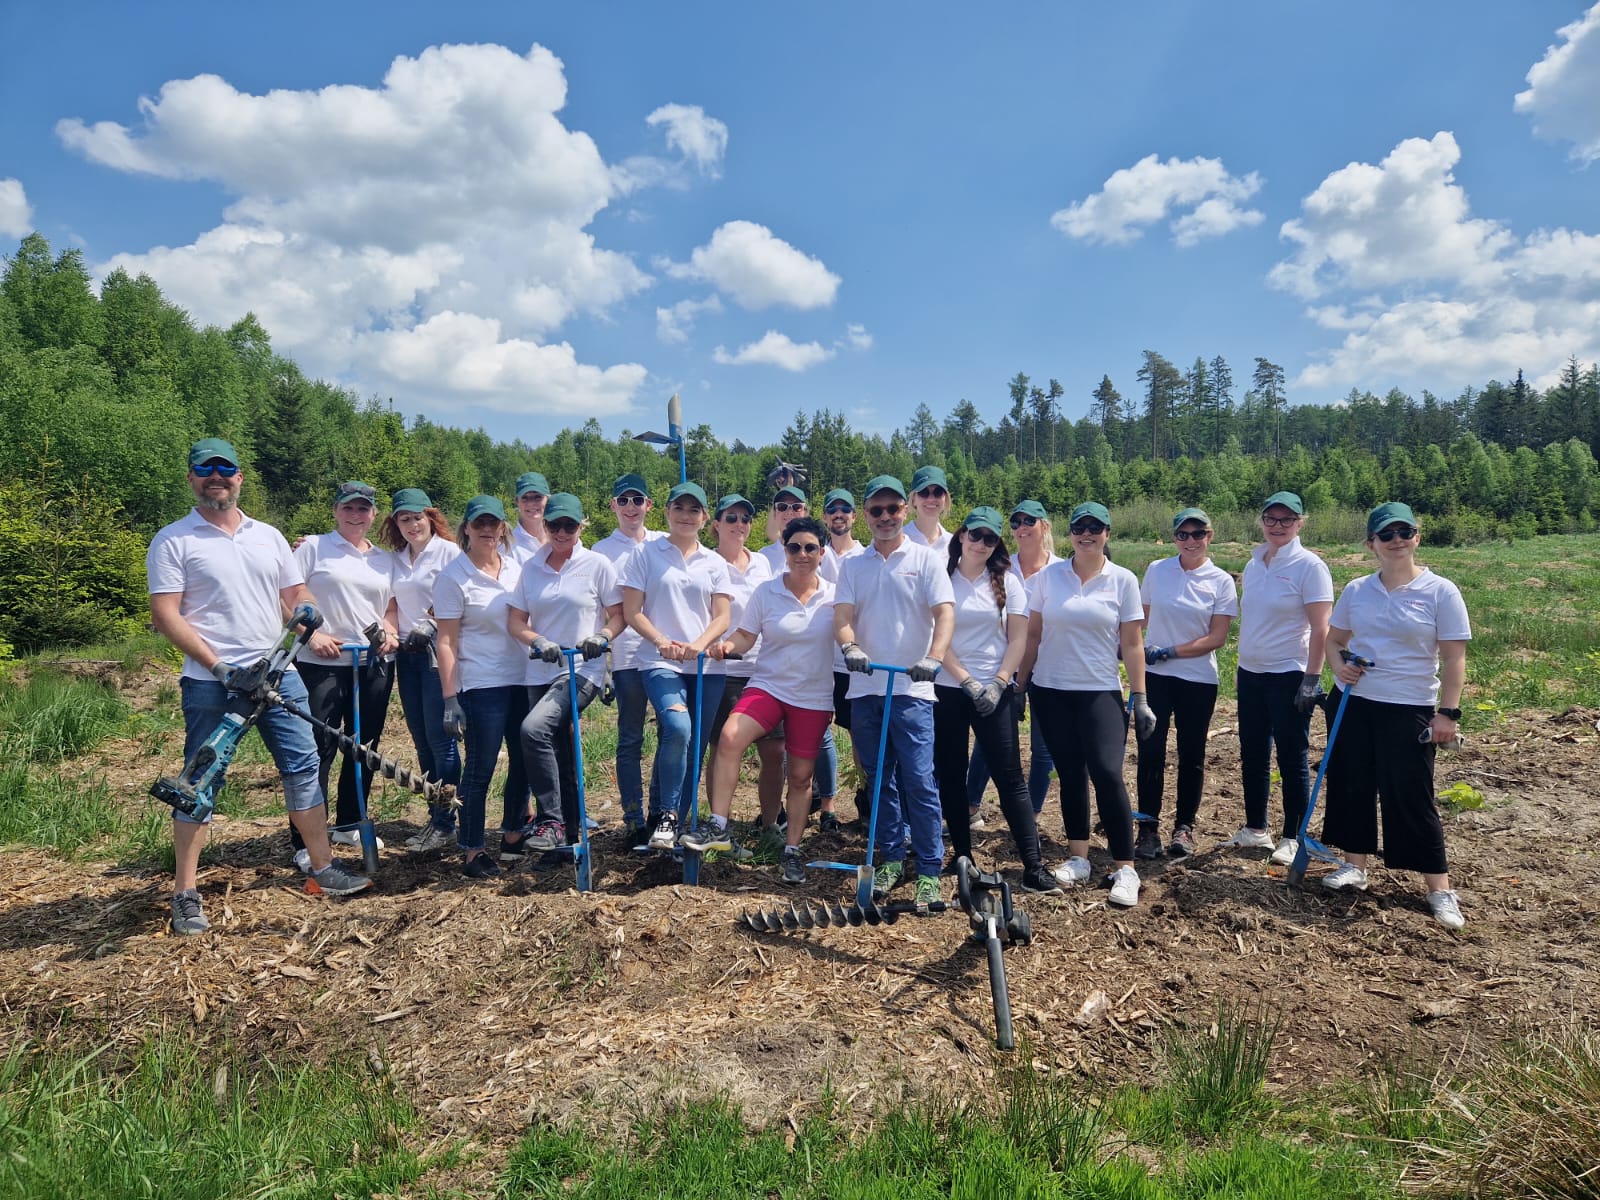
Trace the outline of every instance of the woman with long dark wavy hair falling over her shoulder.
<instances>
[{"instance_id":1,"label":"woman with long dark wavy hair falling over her shoulder","mask_svg":"<svg viewBox=\"0 0 1600 1200\"><path fill-rule=\"evenodd\" d=\"M1003 528L1000 510L981 506L950 538L946 570L955 594L955 632L933 682L933 773L950 851L971 858L966 746L976 738L1022 859L1022 890L1053 893L1059 888L1038 859L1038 826L1022 776L1016 715L1021 693L1011 686L1027 650L1027 595L1011 573Z\"/></svg>"}]
</instances>

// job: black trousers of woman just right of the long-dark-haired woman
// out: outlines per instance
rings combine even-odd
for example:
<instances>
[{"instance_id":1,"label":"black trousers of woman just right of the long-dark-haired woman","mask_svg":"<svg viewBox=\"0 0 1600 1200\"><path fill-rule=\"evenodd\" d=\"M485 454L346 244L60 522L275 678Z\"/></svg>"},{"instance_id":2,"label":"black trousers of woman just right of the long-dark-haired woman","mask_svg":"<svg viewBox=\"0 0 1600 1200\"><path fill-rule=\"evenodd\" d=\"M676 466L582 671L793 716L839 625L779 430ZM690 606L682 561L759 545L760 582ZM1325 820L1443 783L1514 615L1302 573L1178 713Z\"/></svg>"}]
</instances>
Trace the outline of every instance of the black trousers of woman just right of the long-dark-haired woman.
<instances>
[{"instance_id":1,"label":"black trousers of woman just right of the long-dark-haired woman","mask_svg":"<svg viewBox=\"0 0 1600 1200\"><path fill-rule=\"evenodd\" d=\"M1056 762L1061 782L1061 821L1072 842L1090 835L1090 784L1106 845L1117 862L1133 861L1133 808L1122 781L1128 744L1128 710L1120 691L1056 691L1034 685L1038 731ZM1085 776L1085 771L1088 773ZM963 802L965 803L965 802Z\"/></svg>"}]
</instances>

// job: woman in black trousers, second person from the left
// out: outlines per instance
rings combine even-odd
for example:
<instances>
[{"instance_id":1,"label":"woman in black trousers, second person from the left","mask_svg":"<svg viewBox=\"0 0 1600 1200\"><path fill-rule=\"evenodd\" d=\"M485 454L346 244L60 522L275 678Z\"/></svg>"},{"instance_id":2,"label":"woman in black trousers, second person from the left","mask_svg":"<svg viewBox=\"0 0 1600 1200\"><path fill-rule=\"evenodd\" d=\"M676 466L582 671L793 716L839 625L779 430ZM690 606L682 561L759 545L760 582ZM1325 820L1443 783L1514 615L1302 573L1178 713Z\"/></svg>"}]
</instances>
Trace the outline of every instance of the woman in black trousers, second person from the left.
<instances>
[{"instance_id":1,"label":"woman in black trousers, second person from the left","mask_svg":"<svg viewBox=\"0 0 1600 1200\"><path fill-rule=\"evenodd\" d=\"M306 538L294 550L294 562L306 574L306 587L317 597L323 624L301 648L294 661L312 715L334 728L354 733L352 707L362 707L362 741L376 746L384 734L384 718L389 715L389 693L395 685L394 651L398 645L389 616L392 584L389 579L389 550L373 546L366 534L378 514L378 493L370 483L350 480L341 483L333 498L331 533ZM358 674L350 670L350 656L342 645L368 645L366 630L379 626L379 650L362 654ZM333 757L339 752L338 738L317 731L317 758L322 765L322 789L328 794L328 774ZM373 774L362 771L362 794L355 790L355 760L344 757L339 768L339 797L334 811L336 843L354 846L360 842L355 822L362 818L360 805L371 792ZM294 843L294 861L310 866L306 843L299 830L290 826ZM382 848L382 840L378 843Z\"/></svg>"}]
</instances>

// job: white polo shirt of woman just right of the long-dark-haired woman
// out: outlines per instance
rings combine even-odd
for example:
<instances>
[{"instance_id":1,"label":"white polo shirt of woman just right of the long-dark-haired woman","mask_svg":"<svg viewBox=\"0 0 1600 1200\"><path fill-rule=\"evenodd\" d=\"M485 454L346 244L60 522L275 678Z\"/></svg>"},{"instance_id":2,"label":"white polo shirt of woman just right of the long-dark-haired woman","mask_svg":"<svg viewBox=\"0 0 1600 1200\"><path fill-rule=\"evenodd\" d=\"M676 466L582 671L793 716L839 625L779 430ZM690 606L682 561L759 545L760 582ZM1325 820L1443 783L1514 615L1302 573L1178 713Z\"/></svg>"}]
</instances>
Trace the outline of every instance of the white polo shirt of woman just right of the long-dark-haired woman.
<instances>
[{"instance_id":1,"label":"white polo shirt of woman just right of the long-dark-haired woman","mask_svg":"<svg viewBox=\"0 0 1600 1200\"><path fill-rule=\"evenodd\" d=\"M1122 691L1122 626L1144 621L1133 571L1107 558L1099 574L1082 582L1072 560L1062 558L1034 576L1027 611L1043 622L1034 683L1058 691Z\"/></svg>"}]
</instances>

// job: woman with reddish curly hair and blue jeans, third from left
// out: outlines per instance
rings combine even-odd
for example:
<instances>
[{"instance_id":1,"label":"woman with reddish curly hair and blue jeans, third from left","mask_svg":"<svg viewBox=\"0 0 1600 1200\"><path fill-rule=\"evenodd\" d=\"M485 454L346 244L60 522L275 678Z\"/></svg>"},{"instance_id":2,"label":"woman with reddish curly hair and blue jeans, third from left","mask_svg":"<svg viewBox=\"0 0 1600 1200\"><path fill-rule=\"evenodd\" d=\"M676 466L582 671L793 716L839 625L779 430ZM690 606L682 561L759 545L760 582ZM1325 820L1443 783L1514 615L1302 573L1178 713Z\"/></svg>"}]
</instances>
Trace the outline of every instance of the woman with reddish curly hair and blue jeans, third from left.
<instances>
[{"instance_id":1,"label":"woman with reddish curly hair and blue jeans, third from left","mask_svg":"<svg viewBox=\"0 0 1600 1200\"><path fill-rule=\"evenodd\" d=\"M395 686L405 714L416 762L422 774L442 784L461 784L461 747L445 733L445 693L438 686L434 653L434 581L461 557L461 547L445 514L421 488L400 488L378 539L389 555L394 600L389 613L400 638ZM446 845L456 834L454 805L429 805L427 829L406 842L408 850L427 851Z\"/></svg>"}]
</instances>

